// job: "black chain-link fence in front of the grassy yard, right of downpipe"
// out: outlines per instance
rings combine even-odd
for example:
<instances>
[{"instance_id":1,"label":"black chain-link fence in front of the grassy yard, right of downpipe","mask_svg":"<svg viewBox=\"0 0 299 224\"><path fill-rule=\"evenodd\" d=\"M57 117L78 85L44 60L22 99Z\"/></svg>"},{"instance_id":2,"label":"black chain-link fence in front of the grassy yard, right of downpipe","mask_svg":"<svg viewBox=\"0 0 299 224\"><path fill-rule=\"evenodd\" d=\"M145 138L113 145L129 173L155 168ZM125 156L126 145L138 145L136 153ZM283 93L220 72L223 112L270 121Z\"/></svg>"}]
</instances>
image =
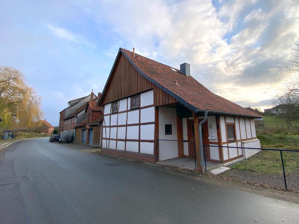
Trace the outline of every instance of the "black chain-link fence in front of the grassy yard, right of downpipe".
<instances>
[{"instance_id":1,"label":"black chain-link fence in front of the grassy yard, right of downpipe","mask_svg":"<svg viewBox=\"0 0 299 224\"><path fill-rule=\"evenodd\" d=\"M243 172L244 179L252 182L254 182L254 177L257 182L260 177L265 177L269 185L275 185L274 179L281 177L284 188L287 190L288 177L290 177L291 185L296 185L296 188L299 186L299 183L293 181L297 176L292 178L292 173L298 172L299 174L299 150L205 145L204 160L205 167L207 167L207 162L230 165L232 169ZM242 177L236 178L242 179ZM267 185L267 181L263 184ZM262 178L260 182L263 182Z\"/></svg>"}]
</instances>

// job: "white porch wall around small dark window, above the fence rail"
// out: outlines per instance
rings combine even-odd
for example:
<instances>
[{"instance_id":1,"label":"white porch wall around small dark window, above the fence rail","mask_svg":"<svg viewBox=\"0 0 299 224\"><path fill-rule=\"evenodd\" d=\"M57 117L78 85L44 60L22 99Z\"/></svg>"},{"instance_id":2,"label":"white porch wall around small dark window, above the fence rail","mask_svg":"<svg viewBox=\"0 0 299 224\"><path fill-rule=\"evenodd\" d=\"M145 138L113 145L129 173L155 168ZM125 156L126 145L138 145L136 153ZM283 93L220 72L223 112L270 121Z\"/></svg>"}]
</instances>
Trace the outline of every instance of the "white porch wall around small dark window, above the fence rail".
<instances>
[{"instance_id":1,"label":"white porch wall around small dark window, above the fence rail","mask_svg":"<svg viewBox=\"0 0 299 224\"><path fill-rule=\"evenodd\" d=\"M172 125L172 135L165 135L166 124ZM177 136L176 108L159 107L159 139L177 140Z\"/></svg>"}]
</instances>

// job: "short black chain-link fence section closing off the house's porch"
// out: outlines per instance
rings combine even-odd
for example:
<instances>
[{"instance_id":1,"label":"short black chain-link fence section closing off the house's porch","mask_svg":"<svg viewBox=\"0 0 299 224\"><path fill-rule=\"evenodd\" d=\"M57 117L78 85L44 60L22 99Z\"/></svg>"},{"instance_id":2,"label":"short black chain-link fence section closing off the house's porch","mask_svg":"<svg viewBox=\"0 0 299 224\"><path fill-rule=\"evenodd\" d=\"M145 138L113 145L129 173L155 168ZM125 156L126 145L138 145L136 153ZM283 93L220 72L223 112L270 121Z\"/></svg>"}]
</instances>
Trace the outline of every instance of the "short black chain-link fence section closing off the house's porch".
<instances>
[{"instance_id":1,"label":"short black chain-link fence section closing off the house's porch","mask_svg":"<svg viewBox=\"0 0 299 224\"><path fill-rule=\"evenodd\" d=\"M170 161L175 158L192 160L196 167L195 141L158 139L157 161Z\"/></svg>"}]
</instances>

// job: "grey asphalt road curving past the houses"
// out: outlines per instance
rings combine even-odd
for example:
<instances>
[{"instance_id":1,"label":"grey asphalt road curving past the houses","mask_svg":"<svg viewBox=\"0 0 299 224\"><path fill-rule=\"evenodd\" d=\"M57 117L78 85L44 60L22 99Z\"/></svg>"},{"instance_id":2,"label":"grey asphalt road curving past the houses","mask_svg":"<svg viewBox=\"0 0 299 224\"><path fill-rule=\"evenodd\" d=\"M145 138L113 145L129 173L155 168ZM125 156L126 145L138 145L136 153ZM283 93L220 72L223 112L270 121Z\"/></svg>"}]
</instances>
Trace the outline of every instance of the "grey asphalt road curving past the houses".
<instances>
[{"instance_id":1,"label":"grey asphalt road curving past the houses","mask_svg":"<svg viewBox=\"0 0 299 224\"><path fill-rule=\"evenodd\" d=\"M2 153L0 223L299 223L299 205L43 138Z\"/></svg>"}]
</instances>

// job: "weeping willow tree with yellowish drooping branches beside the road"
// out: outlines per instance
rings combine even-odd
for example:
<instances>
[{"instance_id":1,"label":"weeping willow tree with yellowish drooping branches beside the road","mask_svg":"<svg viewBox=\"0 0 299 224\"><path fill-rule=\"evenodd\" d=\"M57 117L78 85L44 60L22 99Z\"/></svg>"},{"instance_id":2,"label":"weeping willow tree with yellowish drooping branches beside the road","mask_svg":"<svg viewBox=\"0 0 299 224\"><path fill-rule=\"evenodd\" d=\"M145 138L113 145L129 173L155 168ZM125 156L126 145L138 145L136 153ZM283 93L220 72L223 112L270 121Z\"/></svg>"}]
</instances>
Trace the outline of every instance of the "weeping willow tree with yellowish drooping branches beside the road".
<instances>
[{"instance_id":1,"label":"weeping willow tree with yellowish drooping branches beside the road","mask_svg":"<svg viewBox=\"0 0 299 224\"><path fill-rule=\"evenodd\" d=\"M24 75L0 66L0 127L33 128L42 117L41 97L29 87Z\"/></svg>"}]
</instances>

